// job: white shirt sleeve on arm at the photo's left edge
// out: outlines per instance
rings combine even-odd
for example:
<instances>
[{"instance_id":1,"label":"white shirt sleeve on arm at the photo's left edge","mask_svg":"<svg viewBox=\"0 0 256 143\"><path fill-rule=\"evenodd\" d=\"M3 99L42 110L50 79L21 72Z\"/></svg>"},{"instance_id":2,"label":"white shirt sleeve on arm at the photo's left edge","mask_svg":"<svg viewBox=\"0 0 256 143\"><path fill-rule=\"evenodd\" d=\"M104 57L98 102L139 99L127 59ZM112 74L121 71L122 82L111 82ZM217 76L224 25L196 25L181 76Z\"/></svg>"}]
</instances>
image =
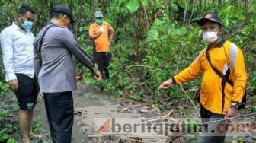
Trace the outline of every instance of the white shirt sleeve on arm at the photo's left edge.
<instances>
[{"instance_id":1,"label":"white shirt sleeve on arm at the photo's left edge","mask_svg":"<svg viewBox=\"0 0 256 143\"><path fill-rule=\"evenodd\" d=\"M13 36L11 31L4 30L0 36L1 40L1 48L2 48L2 57L3 57L3 64L5 66L5 80L11 81L17 79L14 71L14 62L13 62Z\"/></svg>"}]
</instances>

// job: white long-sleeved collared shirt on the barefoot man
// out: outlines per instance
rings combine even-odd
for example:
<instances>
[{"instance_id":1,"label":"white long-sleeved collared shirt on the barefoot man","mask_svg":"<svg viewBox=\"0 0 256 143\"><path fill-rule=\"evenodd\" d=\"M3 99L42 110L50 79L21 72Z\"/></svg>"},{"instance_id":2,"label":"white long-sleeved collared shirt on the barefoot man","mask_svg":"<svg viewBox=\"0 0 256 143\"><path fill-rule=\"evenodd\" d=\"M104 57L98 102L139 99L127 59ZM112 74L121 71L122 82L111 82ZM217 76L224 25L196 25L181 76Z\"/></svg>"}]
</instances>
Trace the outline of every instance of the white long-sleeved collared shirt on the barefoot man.
<instances>
[{"instance_id":1,"label":"white long-sleeved collared shirt on the barefoot man","mask_svg":"<svg viewBox=\"0 0 256 143\"><path fill-rule=\"evenodd\" d=\"M15 73L34 78L34 34L13 23L2 30L0 40L6 81L17 79Z\"/></svg>"}]
</instances>

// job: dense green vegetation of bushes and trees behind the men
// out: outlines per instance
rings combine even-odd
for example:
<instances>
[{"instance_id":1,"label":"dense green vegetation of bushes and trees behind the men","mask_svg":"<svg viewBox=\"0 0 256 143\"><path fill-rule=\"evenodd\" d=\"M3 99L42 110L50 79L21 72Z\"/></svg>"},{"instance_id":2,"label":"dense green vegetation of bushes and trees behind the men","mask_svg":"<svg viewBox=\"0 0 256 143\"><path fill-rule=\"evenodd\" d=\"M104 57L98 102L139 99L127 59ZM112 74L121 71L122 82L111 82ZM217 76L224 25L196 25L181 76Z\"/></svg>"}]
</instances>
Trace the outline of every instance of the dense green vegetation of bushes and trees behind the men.
<instances>
[{"instance_id":1,"label":"dense green vegetation of bushes and trees behind the men","mask_svg":"<svg viewBox=\"0 0 256 143\"><path fill-rule=\"evenodd\" d=\"M104 85L108 94L152 102L161 109L168 109L174 98L186 100L178 87L172 86L166 93L158 91L162 81L190 65L206 46L196 21L206 12L218 13L224 24L224 37L241 47L248 71L248 93L253 98L256 90L256 1L253 0L0 0L0 30L7 27L17 16L21 5L30 5L37 11L33 32L49 21L54 5L69 5L75 15L72 26L75 37L85 51L91 53L88 26L94 21L93 14L101 10L115 32L112 43L113 59L110 81L98 83L78 66L78 75L95 87ZM0 52L0 56L1 56ZM2 60L0 64L2 63ZM200 79L184 84L184 89L194 96ZM8 86L4 82L4 69L0 68L0 102L5 102ZM252 107L256 110L256 106ZM13 130L2 128L4 120L11 116L5 106L0 106L0 142L9 138Z\"/></svg>"}]
</instances>

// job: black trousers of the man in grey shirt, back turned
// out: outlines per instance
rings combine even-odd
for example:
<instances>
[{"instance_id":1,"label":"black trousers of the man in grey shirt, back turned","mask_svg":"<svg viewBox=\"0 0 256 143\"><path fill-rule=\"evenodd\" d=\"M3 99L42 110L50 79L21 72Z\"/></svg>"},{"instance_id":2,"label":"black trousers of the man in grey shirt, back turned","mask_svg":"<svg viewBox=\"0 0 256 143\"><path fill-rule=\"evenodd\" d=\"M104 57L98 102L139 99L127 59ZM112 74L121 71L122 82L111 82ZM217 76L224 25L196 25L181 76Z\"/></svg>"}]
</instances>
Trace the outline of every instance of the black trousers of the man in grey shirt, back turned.
<instances>
[{"instance_id":1,"label":"black trousers of the man in grey shirt, back turned","mask_svg":"<svg viewBox=\"0 0 256 143\"><path fill-rule=\"evenodd\" d=\"M72 91L43 95L53 143L70 143L74 122Z\"/></svg>"}]
</instances>

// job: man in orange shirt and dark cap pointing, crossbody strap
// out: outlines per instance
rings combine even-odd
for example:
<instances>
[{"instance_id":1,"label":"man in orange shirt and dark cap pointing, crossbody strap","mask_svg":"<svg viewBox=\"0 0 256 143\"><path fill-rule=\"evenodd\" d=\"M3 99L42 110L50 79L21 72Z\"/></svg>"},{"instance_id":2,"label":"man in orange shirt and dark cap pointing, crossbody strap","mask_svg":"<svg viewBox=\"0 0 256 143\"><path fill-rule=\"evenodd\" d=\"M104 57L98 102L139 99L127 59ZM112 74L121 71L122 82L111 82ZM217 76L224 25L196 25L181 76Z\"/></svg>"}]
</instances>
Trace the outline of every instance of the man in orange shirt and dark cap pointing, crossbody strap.
<instances>
[{"instance_id":1,"label":"man in orange shirt and dark cap pointing, crossbody strap","mask_svg":"<svg viewBox=\"0 0 256 143\"><path fill-rule=\"evenodd\" d=\"M159 88L168 89L172 83L182 84L203 74L200 87L202 122L236 116L237 105L242 102L247 81L242 50L221 37L222 22L217 14L205 14L197 24L202 27L203 40L207 41L208 47L200 52L189 67L163 82ZM220 78L220 75L226 78ZM202 142L225 141L226 133L219 132L218 122L209 123L206 129Z\"/></svg>"}]
</instances>

